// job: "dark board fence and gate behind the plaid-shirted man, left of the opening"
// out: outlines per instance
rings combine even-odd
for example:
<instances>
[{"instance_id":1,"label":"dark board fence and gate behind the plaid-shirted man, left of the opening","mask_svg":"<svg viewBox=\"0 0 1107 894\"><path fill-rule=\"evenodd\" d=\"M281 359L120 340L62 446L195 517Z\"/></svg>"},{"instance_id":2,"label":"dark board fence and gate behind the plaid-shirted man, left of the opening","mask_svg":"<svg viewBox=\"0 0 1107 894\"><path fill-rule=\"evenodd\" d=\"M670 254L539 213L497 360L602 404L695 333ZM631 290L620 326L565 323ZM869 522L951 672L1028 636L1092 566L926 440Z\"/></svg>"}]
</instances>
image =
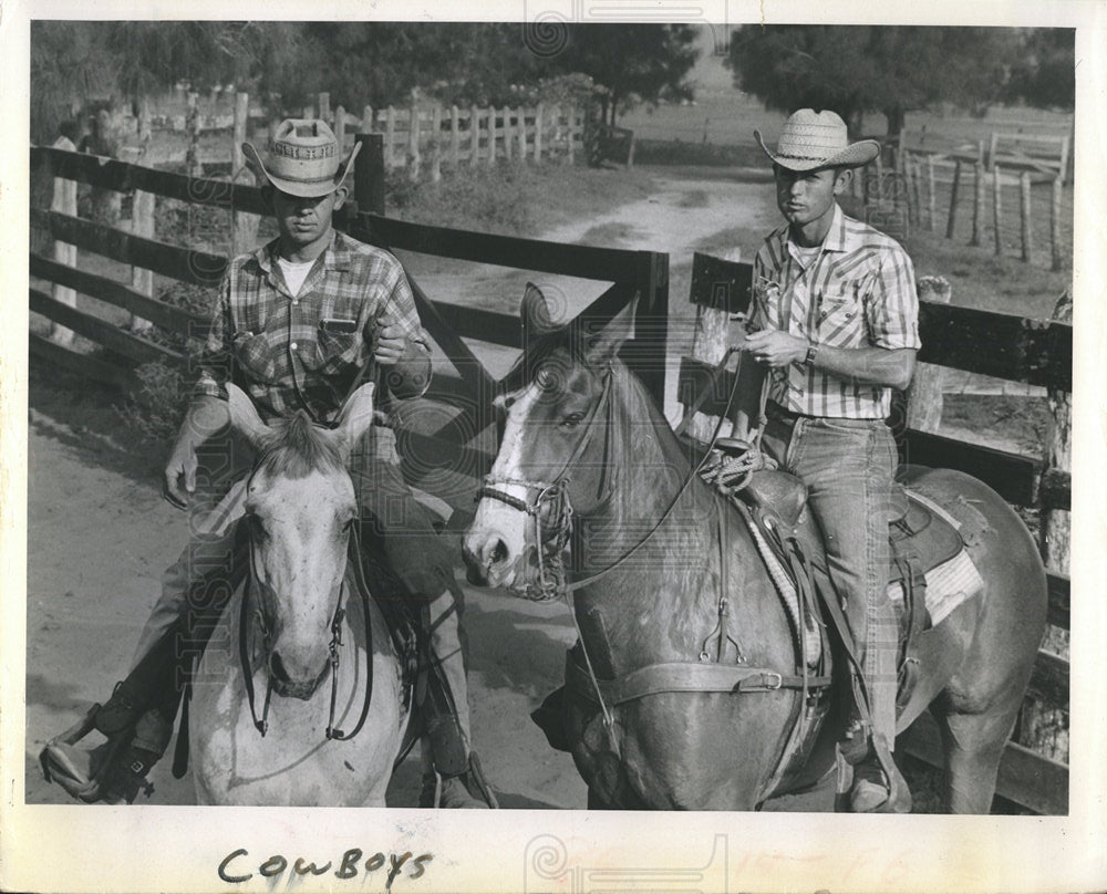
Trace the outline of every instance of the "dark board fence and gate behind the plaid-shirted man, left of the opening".
<instances>
[{"instance_id":1,"label":"dark board fence and gate behind the plaid-shirted man, left of the opening","mask_svg":"<svg viewBox=\"0 0 1107 894\"><path fill-rule=\"evenodd\" d=\"M603 323L640 295L635 337L628 356L651 392L664 399L664 356L668 320L669 256L650 251L593 248L544 242L486 233L407 224L374 212L383 210L384 141L380 134L359 135L365 147L354 168L355 201L339 217L339 226L356 238L382 247L493 263L523 270L572 276L610 282L581 312ZM31 166L48 166L55 177L55 194L66 191L65 181L154 195L196 206L226 209L236 216L266 214L261 190L227 180L186 177L124 162L107 160L60 147L31 149ZM138 202L135 202L138 207ZM149 236L115 229L81 219L72 210L35 208L31 225L48 231L60 246L54 257L30 256L31 277L50 283L50 292L32 285L31 310L53 322L53 332L30 333L30 351L56 365L111 384L134 387L135 367L151 361L183 366L186 356L166 347L144 326L121 329L105 322L102 313L77 308L75 293L89 295L130 313L133 321L147 321L176 336L203 335L208 320L159 301L152 289L135 288L73 266L70 247L148 270L180 282L215 287L226 269L221 254L179 248ZM134 229L134 227L132 227ZM520 347L518 319L474 308L464 308L426 295L408 276L424 325L444 350L453 370L436 365L428 397L459 407L461 415L433 430L403 433L407 438L406 471L415 479L431 480L436 472L482 476L495 457L488 443L490 403L498 383L463 339L476 339L508 347ZM660 325L655 321L662 321ZM138 330L138 331L136 331ZM73 333L100 346L90 354L73 349ZM494 433L492 433L494 435ZM472 490L464 500L472 508Z\"/></svg>"}]
</instances>

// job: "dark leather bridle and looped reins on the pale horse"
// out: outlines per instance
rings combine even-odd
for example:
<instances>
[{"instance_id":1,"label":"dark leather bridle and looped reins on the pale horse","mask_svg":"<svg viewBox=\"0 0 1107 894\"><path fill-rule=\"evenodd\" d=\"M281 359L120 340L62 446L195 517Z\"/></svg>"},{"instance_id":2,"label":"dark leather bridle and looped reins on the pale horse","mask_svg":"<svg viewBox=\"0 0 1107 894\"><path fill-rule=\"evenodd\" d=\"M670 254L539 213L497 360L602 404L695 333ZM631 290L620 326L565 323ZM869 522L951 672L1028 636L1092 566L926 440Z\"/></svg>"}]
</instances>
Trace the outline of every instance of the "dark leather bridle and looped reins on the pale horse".
<instances>
[{"instance_id":1,"label":"dark leather bridle and looped reins on the pale horse","mask_svg":"<svg viewBox=\"0 0 1107 894\"><path fill-rule=\"evenodd\" d=\"M254 475L250 475L247 481L246 488L249 491L249 486L254 480ZM361 542L358 531L356 522L351 528L350 547L348 549L348 562L353 565L354 574L354 589L361 597L361 610L362 616L364 618L365 625L365 696L362 699L361 705L361 716L358 718L358 724L354 726L353 730L345 732L334 726L334 717L338 705L338 675L339 675L339 663L341 653L339 649L343 645L342 643L342 622L345 620L345 595L346 595L346 582L345 575L343 574L342 583L339 584L339 600L338 604L334 606L334 614L331 616L331 642L328 646L330 654L330 665L331 665L331 704L330 714L327 720L327 738L335 741L343 741L352 739L356 736L362 727L365 726L365 720L369 717L369 707L373 697L373 621L369 613L369 588L366 586L364 580L364 572L361 568ZM266 697L261 706L261 716L258 716L256 707L256 695L254 689L254 667L250 661L250 643L249 643L249 631L250 631L250 614L249 614L249 603L250 603L250 584L259 588L263 595L269 595L273 592L273 589L265 580L261 571L258 566L257 552L255 550L254 538L249 538L249 551L250 551L250 580L247 581L241 601L241 610L238 622L238 654L239 659L242 665L242 677L246 682L246 697L250 705L250 718L254 720L254 727L263 737L266 732L269 731L269 704L272 699L273 692L273 678L272 671L267 669L266 673ZM254 622L257 624L258 630L261 633L261 646L262 652L266 656L269 655L269 649L272 646L272 634L269 630L269 624L266 621L265 611L261 606L258 606L255 612Z\"/></svg>"}]
</instances>

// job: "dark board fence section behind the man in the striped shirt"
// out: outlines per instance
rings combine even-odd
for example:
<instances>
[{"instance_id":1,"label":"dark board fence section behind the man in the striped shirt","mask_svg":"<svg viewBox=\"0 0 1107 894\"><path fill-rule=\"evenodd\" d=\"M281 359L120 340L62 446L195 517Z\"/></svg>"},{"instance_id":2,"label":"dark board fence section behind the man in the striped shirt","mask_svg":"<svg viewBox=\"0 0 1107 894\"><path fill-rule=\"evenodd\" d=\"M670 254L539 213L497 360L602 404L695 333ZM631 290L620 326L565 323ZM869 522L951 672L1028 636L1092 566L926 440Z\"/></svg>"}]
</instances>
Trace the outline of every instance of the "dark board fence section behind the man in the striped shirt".
<instances>
[{"instance_id":1,"label":"dark board fence section behind the man in the striped shirt","mask_svg":"<svg viewBox=\"0 0 1107 894\"><path fill-rule=\"evenodd\" d=\"M695 256L690 295L697 305L695 356L682 358L677 380L677 394L685 406L703 388L710 387L712 368L726 350L730 315L747 311L752 282L752 264ZM1039 510L1049 582L1048 623L1068 631L1067 517L1072 477L1067 407L1073 388L1072 325L929 301L920 303L919 323L923 347L919 352L921 363L917 380L925 377L928 365L940 365L1051 389L1056 414L1052 440L1064 446L1051 453L1048 465L1037 458L981 447L915 427L903 433L901 455L904 460L921 466L960 469L990 485L1008 502ZM989 350L981 350L983 345ZM711 416L724 412L733 381L732 373L717 387L713 399L704 404L702 417L692 420L689 430L693 437L705 438L714 428ZM1065 543L1063 549L1061 540ZM1041 651L1031 680L1030 705L1024 707L1024 713L1037 710L1038 705L1067 711L1068 693L1068 661L1053 652ZM904 734L902 745L909 753L941 766L938 730L929 714ZM1000 767L997 792L1039 813L1067 813L1068 768L1011 741Z\"/></svg>"}]
</instances>

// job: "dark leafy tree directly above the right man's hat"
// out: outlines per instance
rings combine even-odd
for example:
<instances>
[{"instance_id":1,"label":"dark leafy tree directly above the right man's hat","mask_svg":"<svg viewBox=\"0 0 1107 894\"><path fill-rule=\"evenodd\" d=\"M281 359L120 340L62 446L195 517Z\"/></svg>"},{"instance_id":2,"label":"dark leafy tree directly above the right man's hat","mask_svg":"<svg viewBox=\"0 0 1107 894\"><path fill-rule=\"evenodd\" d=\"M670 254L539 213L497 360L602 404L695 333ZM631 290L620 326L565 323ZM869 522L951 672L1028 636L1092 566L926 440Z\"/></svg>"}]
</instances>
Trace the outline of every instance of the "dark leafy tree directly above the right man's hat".
<instances>
[{"instance_id":1,"label":"dark leafy tree directly above the right man's hat","mask_svg":"<svg viewBox=\"0 0 1107 894\"><path fill-rule=\"evenodd\" d=\"M1017 46L1001 28L747 25L727 64L768 108L830 108L855 133L866 112L881 112L894 136L911 110L1000 98Z\"/></svg>"}]
</instances>

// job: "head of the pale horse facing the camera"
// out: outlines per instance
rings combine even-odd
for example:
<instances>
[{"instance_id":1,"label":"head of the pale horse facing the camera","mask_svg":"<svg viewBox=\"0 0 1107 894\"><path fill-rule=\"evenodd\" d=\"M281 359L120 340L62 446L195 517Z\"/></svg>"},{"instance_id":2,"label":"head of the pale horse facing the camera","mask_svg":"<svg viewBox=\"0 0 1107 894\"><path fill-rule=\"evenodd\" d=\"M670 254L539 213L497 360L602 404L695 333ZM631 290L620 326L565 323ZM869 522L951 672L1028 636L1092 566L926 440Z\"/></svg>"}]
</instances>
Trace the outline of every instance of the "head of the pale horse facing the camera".
<instances>
[{"instance_id":1,"label":"head of the pale horse facing the camera","mask_svg":"<svg viewBox=\"0 0 1107 894\"><path fill-rule=\"evenodd\" d=\"M373 386L350 398L337 428L303 413L273 426L229 386L231 426L258 450L246 493L251 570L279 695L309 698L330 658L350 532L358 520L350 451L373 419Z\"/></svg>"}]
</instances>

